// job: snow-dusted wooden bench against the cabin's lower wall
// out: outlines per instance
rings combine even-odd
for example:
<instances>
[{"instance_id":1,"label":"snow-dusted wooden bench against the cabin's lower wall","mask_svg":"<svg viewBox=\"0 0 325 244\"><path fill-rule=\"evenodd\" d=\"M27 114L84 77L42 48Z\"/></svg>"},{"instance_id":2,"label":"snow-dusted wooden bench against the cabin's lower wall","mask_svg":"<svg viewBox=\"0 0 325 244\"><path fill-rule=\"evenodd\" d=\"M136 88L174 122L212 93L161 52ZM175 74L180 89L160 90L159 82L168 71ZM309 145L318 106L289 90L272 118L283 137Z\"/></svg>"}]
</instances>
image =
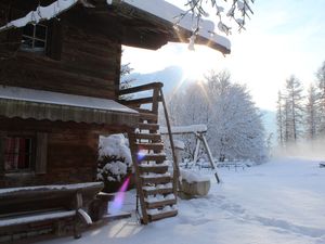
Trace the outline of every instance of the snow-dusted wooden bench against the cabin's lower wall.
<instances>
[{"instance_id":1,"label":"snow-dusted wooden bench against the cabin's lower wall","mask_svg":"<svg viewBox=\"0 0 325 244\"><path fill-rule=\"evenodd\" d=\"M103 188L102 182L54 184L0 190L0 235L18 232L28 223L58 221L74 218L74 235L80 237L77 219L91 224L92 219L82 209L82 194L94 196ZM79 218L75 218L75 217ZM28 230L27 230L28 229Z\"/></svg>"}]
</instances>

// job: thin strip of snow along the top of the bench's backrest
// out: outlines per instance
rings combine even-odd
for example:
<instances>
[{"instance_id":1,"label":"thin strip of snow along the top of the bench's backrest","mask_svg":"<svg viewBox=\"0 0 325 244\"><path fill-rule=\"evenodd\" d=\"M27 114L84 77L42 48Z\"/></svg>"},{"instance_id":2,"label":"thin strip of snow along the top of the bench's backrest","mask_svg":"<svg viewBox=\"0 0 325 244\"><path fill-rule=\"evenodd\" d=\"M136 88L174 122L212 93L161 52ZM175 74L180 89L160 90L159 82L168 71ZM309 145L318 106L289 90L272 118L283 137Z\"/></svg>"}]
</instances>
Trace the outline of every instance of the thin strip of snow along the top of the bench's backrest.
<instances>
[{"instance_id":1,"label":"thin strip of snow along the top of the bench's backrest","mask_svg":"<svg viewBox=\"0 0 325 244\"><path fill-rule=\"evenodd\" d=\"M22 192L22 191L35 191L35 190L79 190L83 188L91 188L102 184L101 182L87 182L76 184L49 184L38 187L25 187L25 188L5 188L0 189L0 196L6 193Z\"/></svg>"}]
</instances>

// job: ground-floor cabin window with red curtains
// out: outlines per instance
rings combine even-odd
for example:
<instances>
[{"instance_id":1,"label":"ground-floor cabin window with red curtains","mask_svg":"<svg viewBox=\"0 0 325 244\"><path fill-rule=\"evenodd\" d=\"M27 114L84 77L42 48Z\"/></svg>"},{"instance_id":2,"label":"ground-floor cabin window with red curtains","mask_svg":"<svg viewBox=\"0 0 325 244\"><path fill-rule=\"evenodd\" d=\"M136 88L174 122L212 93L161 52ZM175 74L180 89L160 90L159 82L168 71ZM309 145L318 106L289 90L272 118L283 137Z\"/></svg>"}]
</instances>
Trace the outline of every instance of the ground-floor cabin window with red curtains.
<instances>
[{"instance_id":1,"label":"ground-floor cabin window with red curtains","mask_svg":"<svg viewBox=\"0 0 325 244\"><path fill-rule=\"evenodd\" d=\"M28 171L35 158L35 139L26 137L4 138L4 171Z\"/></svg>"}]
</instances>

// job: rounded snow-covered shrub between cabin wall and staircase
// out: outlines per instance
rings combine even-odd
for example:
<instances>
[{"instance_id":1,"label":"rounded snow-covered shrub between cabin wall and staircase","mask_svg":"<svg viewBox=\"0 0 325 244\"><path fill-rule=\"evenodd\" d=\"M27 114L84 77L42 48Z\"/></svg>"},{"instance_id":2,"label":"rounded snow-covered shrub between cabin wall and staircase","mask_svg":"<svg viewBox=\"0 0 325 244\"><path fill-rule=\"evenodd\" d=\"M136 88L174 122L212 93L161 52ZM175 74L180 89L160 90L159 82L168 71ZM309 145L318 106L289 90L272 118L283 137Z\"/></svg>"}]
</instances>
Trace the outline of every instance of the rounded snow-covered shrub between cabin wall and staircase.
<instances>
[{"instance_id":1,"label":"rounded snow-covered shrub between cabin wall and staircase","mask_svg":"<svg viewBox=\"0 0 325 244\"><path fill-rule=\"evenodd\" d=\"M132 159L128 140L123 134L100 137L98 180L105 183L105 190L116 191L113 185L119 185L132 172Z\"/></svg>"}]
</instances>

